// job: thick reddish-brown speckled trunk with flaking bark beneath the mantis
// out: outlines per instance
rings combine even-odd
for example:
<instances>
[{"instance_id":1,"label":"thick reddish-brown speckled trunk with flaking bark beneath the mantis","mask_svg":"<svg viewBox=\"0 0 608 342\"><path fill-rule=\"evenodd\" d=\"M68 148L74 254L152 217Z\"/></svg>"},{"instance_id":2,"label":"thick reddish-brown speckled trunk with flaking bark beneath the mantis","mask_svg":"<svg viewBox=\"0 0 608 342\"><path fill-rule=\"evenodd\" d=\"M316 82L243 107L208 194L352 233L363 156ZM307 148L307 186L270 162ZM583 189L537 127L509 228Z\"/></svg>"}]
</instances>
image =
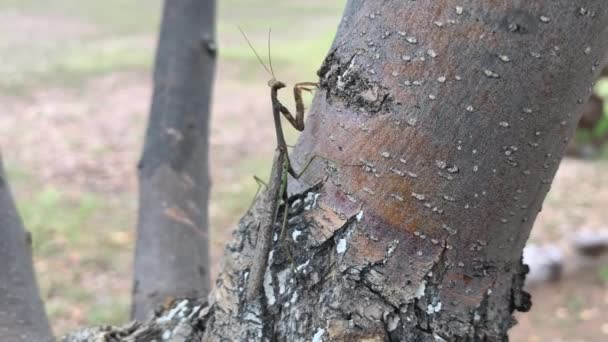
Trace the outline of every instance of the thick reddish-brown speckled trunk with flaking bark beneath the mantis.
<instances>
[{"instance_id":1,"label":"thick reddish-brown speckled trunk with flaking bark beneath the mantis","mask_svg":"<svg viewBox=\"0 0 608 342\"><path fill-rule=\"evenodd\" d=\"M204 341L507 340L607 44L602 0L349 1L292 155L337 161L290 182L295 265L275 242L265 301L246 302L260 198L209 306L168 316ZM148 324L184 340L166 321Z\"/></svg>"}]
</instances>

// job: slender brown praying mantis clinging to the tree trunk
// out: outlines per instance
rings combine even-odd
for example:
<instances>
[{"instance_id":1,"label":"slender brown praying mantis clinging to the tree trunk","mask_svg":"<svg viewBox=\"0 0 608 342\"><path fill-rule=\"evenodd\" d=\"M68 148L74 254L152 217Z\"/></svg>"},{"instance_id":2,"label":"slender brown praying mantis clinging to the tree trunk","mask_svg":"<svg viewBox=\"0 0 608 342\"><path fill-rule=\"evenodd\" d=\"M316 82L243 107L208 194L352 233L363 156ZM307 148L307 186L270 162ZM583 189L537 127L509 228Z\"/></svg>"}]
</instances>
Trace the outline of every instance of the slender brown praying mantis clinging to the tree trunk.
<instances>
[{"instance_id":1,"label":"slender brown praying mantis clinging to the tree trunk","mask_svg":"<svg viewBox=\"0 0 608 342\"><path fill-rule=\"evenodd\" d=\"M293 95L296 103L296 115L295 117L291 114L289 109L285 107L278 98L278 92L280 89L285 88L285 83L278 81L274 76L274 70L272 69L272 59L270 57L270 30L268 31L268 67L264 64L257 51L243 32L239 28L241 34L249 44L249 47L257 57L258 61L262 64L264 69L272 77L268 81L270 87L270 100L272 102L272 115L274 120L275 133L277 137L277 147L275 151L275 158L272 165L272 172L266 191L268 194L270 203L266 206L266 211L260 219L258 226L257 242L255 255L253 259L252 268L250 270L249 282L247 284L247 300L253 301L262 294L264 273L268 266L268 256L272 247L273 230L277 223L279 203L283 200L283 203L287 205L287 182L289 176L298 179L306 171L308 166L312 163L316 156L312 156L306 163L302 171L296 172L289 160L289 152L287 150L287 143L285 141L285 135L283 134L283 127L281 125L281 115L283 115L287 121L298 131L304 130L304 102L302 100L302 91L312 92L313 89L318 88L318 84L315 82L300 82L296 83L293 87ZM287 208L283 210L283 217L281 221L281 233L279 241L283 244L285 241L285 232L287 230ZM288 257L291 259L291 255L287 250L286 246L283 246Z\"/></svg>"}]
</instances>

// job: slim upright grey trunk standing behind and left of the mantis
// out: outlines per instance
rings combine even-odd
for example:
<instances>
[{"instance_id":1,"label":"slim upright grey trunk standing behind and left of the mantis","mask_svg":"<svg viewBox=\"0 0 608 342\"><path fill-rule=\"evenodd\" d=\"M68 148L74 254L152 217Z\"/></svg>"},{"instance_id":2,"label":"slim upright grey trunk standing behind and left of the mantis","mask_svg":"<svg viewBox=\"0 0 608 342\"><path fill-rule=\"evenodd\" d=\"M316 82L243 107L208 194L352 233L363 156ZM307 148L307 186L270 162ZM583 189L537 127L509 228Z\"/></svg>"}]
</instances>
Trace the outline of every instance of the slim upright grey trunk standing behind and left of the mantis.
<instances>
[{"instance_id":1,"label":"slim upright grey trunk standing behind and left of the mantis","mask_svg":"<svg viewBox=\"0 0 608 342\"><path fill-rule=\"evenodd\" d=\"M132 316L209 291L208 130L216 60L215 2L166 1L154 95L139 164Z\"/></svg>"}]
</instances>

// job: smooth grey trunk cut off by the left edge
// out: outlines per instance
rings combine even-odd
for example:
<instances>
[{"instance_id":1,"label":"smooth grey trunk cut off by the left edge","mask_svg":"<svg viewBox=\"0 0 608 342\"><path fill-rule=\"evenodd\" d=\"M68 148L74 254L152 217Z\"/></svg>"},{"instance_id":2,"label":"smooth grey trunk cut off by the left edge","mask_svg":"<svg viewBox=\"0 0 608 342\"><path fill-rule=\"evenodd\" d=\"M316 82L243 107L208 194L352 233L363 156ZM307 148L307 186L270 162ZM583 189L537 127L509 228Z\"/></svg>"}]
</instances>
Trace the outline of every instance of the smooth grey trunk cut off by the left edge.
<instances>
[{"instance_id":1,"label":"smooth grey trunk cut off by the left edge","mask_svg":"<svg viewBox=\"0 0 608 342\"><path fill-rule=\"evenodd\" d=\"M23 228L0 158L0 341L53 341L38 294L32 237Z\"/></svg>"}]
</instances>

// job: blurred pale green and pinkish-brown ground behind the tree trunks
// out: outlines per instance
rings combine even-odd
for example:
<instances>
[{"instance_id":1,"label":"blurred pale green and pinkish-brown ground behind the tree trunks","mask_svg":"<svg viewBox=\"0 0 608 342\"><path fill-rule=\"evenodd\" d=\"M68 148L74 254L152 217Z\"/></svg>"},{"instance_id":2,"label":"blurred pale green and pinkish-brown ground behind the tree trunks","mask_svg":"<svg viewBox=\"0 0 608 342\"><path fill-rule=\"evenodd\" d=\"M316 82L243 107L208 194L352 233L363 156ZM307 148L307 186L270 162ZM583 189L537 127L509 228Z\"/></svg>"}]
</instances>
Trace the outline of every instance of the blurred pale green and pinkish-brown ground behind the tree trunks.
<instances>
[{"instance_id":1,"label":"blurred pale green and pinkish-brown ground behind the tree trunks","mask_svg":"<svg viewBox=\"0 0 608 342\"><path fill-rule=\"evenodd\" d=\"M274 146L265 55L272 27L277 76L316 79L344 0L218 1L220 58L211 126L213 271L266 177ZM0 0L0 148L56 334L128 318L137 182L151 96L160 0ZM600 98L608 84L598 83ZM287 100L289 102L289 100ZM608 116L581 128L533 230L568 248L608 228ZM598 112L598 110L595 110ZM289 134L293 141L295 133ZM585 157L581 159L580 157ZM215 273L214 273L215 274ZM608 263L532 286L514 341L608 340Z\"/></svg>"}]
</instances>

